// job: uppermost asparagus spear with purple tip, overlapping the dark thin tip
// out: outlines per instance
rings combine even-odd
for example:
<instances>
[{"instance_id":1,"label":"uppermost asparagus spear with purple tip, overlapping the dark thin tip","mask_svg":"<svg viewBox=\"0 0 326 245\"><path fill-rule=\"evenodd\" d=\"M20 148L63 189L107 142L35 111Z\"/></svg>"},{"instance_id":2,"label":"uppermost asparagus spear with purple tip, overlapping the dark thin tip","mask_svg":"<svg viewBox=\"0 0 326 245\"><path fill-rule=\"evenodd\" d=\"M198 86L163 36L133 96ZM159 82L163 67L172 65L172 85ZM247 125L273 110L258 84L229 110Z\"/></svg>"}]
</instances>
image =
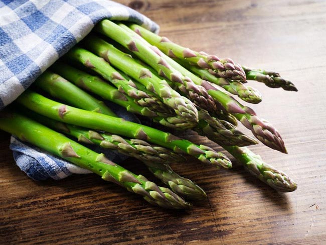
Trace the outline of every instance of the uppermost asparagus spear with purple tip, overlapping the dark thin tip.
<instances>
[{"instance_id":1,"label":"uppermost asparagus spear with purple tip, overlapping the dark thin tip","mask_svg":"<svg viewBox=\"0 0 326 245\"><path fill-rule=\"evenodd\" d=\"M208 55L204 52L196 52L171 42L166 37L160 37L136 24L130 24L129 28L138 33L143 39L156 46L166 55L179 58L196 64L217 77L245 81L246 75L242 67L235 64L230 58L220 59L216 55Z\"/></svg>"}]
</instances>

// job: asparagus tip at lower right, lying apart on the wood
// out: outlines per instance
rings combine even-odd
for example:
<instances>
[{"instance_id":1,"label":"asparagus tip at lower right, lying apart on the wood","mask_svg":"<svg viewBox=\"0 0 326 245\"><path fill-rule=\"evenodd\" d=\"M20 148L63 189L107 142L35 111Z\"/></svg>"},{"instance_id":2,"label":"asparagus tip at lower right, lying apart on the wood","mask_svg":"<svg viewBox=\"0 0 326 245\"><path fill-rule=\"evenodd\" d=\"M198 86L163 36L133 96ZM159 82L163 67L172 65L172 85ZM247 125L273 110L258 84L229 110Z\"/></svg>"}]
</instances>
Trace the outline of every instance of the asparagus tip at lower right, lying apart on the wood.
<instances>
[{"instance_id":1,"label":"asparagus tip at lower right, lying apart on the wood","mask_svg":"<svg viewBox=\"0 0 326 245\"><path fill-rule=\"evenodd\" d=\"M259 155L254 154L246 147L223 146L235 157L251 174L280 192L290 192L297 188L297 184L284 172L265 163Z\"/></svg>"}]
</instances>

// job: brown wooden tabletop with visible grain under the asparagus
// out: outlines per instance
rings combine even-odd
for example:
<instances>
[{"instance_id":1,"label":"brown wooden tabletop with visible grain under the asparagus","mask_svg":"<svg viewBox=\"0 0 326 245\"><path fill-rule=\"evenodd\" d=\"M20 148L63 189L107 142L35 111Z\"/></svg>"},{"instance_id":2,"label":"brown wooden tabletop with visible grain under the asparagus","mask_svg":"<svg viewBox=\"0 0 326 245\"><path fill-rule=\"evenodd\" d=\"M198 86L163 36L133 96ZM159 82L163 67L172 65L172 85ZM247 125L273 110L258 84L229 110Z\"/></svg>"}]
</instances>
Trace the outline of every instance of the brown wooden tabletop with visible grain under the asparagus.
<instances>
[{"instance_id":1,"label":"brown wooden tabletop with visible grain under the asparagus","mask_svg":"<svg viewBox=\"0 0 326 245\"><path fill-rule=\"evenodd\" d=\"M288 92L249 82L263 95L252 107L279 130L288 155L262 144L250 149L291 176L298 189L278 193L241 167L222 171L192 160L172 166L196 181L207 199L189 211L162 210L95 175L35 182L16 166L10 136L1 132L0 243L326 244L326 3L119 2L183 46L278 71L296 84L299 91ZM222 151L195 134L191 139ZM135 160L123 166L150 176Z\"/></svg>"}]
</instances>

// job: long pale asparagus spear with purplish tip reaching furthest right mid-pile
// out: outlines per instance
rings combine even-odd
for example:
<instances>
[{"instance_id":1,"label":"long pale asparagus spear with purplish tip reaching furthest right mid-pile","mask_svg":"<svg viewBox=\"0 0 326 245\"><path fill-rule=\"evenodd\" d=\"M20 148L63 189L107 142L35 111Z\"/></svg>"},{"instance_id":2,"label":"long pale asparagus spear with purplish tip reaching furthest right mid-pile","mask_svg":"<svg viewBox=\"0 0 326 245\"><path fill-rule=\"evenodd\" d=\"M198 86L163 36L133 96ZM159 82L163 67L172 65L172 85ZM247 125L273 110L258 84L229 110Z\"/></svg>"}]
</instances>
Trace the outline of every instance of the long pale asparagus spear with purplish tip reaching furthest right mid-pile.
<instances>
[{"instance_id":1,"label":"long pale asparagus spear with purplish tip reaching furthest right mid-pile","mask_svg":"<svg viewBox=\"0 0 326 245\"><path fill-rule=\"evenodd\" d=\"M126 28L125 28L126 29ZM128 32L128 31L126 31ZM129 34L129 32L128 32ZM140 31L138 34L142 35ZM140 39L141 37L138 37ZM142 40L142 44L145 45L145 40ZM147 44L149 46L150 44ZM154 47L154 46L153 46ZM243 106L233 97L225 94L223 91L217 87L212 86L209 82L202 80L182 65L162 53L159 49L156 48L156 53L164 58L170 66L175 67L183 75L191 78L196 84L204 86L208 93L214 98L219 108L226 110L227 112L233 114L241 123L249 130L252 134L266 146L278 150L283 153L287 153L284 142L278 133L278 131L265 119L259 118L253 109ZM212 111L209 111L212 112Z\"/></svg>"}]
</instances>

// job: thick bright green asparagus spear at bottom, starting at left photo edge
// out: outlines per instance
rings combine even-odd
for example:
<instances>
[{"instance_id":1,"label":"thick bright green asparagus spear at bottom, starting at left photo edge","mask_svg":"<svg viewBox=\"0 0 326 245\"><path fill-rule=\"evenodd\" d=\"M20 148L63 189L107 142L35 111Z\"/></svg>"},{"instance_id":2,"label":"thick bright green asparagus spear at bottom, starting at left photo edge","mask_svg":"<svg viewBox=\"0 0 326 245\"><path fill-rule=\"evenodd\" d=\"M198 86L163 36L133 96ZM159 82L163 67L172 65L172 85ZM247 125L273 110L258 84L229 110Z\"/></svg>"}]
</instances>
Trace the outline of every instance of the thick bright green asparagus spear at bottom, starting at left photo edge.
<instances>
[{"instance_id":1,"label":"thick bright green asparagus spear at bottom, starting at left photo edge","mask_svg":"<svg viewBox=\"0 0 326 245\"><path fill-rule=\"evenodd\" d=\"M189 203L170 189L159 187L155 183L148 181L144 176L131 173L108 160L103 154L97 154L19 113L9 109L2 111L0 129L82 168L86 168L101 176L104 180L121 185L130 192L140 194L151 204L174 209L191 207Z\"/></svg>"}]
</instances>

